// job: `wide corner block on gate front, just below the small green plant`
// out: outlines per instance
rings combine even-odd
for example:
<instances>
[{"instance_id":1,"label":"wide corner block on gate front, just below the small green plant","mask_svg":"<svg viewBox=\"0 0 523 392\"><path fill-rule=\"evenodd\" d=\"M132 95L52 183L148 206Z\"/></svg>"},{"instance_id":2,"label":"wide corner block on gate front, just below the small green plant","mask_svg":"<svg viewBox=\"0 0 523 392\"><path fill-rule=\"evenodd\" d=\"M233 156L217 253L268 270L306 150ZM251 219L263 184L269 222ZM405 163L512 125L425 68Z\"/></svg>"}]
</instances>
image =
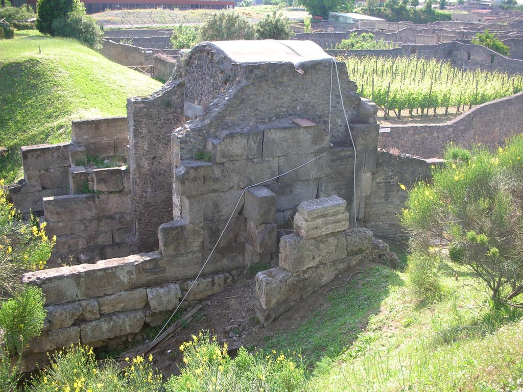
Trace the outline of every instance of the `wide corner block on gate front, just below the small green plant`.
<instances>
[{"instance_id":1,"label":"wide corner block on gate front, just below the small green plant","mask_svg":"<svg viewBox=\"0 0 523 392\"><path fill-rule=\"evenodd\" d=\"M183 160L175 170L174 191L180 196L221 192L223 165L201 160Z\"/></svg>"}]
</instances>

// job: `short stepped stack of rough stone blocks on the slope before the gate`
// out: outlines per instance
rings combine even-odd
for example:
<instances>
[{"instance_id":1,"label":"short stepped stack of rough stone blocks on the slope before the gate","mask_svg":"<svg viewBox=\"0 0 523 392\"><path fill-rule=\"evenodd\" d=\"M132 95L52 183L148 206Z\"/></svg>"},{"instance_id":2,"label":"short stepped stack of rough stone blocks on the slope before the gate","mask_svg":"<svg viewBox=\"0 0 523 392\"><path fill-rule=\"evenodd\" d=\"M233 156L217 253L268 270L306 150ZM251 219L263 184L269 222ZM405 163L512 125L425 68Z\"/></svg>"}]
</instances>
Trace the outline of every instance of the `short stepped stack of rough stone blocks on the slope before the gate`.
<instances>
[{"instance_id":1,"label":"short stepped stack of rough stone blocks on the slope before the gate","mask_svg":"<svg viewBox=\"0 0 523 392\"><path fill-rule=\"evenodd\" d=\"M300 203L295 233L280 240L279 267L256 274L256 316L269 322L354 264L392 264L394 257L368 229L347 229L346 201L337 197Z\"/></svg>"}]
</instances>

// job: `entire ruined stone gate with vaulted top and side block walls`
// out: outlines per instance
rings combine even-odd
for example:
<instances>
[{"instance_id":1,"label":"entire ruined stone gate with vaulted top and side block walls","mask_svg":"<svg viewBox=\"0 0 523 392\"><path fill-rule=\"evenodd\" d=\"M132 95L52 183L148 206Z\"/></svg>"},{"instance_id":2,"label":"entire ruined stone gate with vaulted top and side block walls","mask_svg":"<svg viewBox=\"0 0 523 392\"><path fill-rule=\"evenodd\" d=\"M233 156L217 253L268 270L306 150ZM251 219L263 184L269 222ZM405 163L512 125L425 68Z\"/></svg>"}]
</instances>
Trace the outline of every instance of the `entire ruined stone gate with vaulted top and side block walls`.
<instances>
[{"instance_id":1,"label":"entire ruined stone gate with vaulted top and side block walls","mask_svg":"<svg viewBox=\"0 0 523 392\"><path fill-rule=\"evenodd\" d=\"M203 42L161 90L128 100L129 169L78 166L84 161L72 156L90 148L94 136L87 135L96 133L87 128L82 139L73 132L73 143L63 146L70 159L57 166L69 174L70 194L62 187L44 197L43 220L64 244L89 238L90 245L67 248L89 263L22 278L42 288L48 307L46 331L31 343L31 358L71 342L99 347L132 339L161 324L181 297L187 294L189 305L200 301L258 261L280 257L279 267L257 276L257 313L269 322L358 255L389 258L369 230L344 230L349 219L369 226L368 214L380 234L399 235L391 225L404 195L388 189L425 176L429 164L416 160L414 169L396 170L395 162L407 158L378 152L376 107L360 99L345 66L335 65L308 41ZM115 139L108 143L116 146ZM31 188L31 178L41 180L42 170L55 168L56 147L38 148L47 160L33 156L37 168L29 170L31 154L22 156L26 181L19 187L29 188L17 194L42 192ZM93 193L78 193L78 176ZM46 196L31 193L32 202L40 195ZM293 228L296 233L283 236ZM115 247L127 255L109 256ZM321 251L297 265L307 247ZM306 289L296 289L303 284Z\"/></svg>"}]
</instances>

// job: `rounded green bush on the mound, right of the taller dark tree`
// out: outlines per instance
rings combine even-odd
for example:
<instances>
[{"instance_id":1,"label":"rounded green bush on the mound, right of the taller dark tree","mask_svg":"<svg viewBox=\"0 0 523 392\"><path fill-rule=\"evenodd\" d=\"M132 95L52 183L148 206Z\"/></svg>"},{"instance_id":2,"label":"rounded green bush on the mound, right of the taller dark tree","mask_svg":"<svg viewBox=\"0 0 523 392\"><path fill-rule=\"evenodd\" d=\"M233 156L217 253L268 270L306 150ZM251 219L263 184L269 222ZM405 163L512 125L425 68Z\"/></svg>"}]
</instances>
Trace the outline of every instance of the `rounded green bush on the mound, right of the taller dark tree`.
<instances>
[{"instance_id":1,"label":"rounded green bush on the mound, right of the taller dark tree","mask_svg":"<svg viewBox=\"0 0 523 392\"><path fill-rule=\"evenodd\" d=\"M101 50L104 32L98 27L96 20L85 15L84 11L76 10L54 19L51 31L53 36L74 38L91 49Z\"/></svg>"}]
</instances>

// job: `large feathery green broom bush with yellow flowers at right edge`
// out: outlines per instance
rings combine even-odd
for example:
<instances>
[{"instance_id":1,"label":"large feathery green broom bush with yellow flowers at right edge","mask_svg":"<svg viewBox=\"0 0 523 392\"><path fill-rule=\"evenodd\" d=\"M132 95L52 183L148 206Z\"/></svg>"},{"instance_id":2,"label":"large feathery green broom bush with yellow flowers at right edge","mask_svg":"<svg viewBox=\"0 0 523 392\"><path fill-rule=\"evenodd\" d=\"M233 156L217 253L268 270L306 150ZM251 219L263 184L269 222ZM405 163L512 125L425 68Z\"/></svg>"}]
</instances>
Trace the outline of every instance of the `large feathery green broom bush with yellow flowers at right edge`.
<instances>
[{"instance_id":1,"label":"large feathery green broom bush with yellow flowers at right edge","mask_svg":"<svg viewBox=\"0 0 523 392\"><path fill-rule=\"evenodd\" d=\"M493 300L523 306L522 136L496 153L450 145L445 156L431 185L408 192L401 221L412 248L427 255L432 238L445 238L449 258L483 281Z\"/></svg>"}]
</instances>

